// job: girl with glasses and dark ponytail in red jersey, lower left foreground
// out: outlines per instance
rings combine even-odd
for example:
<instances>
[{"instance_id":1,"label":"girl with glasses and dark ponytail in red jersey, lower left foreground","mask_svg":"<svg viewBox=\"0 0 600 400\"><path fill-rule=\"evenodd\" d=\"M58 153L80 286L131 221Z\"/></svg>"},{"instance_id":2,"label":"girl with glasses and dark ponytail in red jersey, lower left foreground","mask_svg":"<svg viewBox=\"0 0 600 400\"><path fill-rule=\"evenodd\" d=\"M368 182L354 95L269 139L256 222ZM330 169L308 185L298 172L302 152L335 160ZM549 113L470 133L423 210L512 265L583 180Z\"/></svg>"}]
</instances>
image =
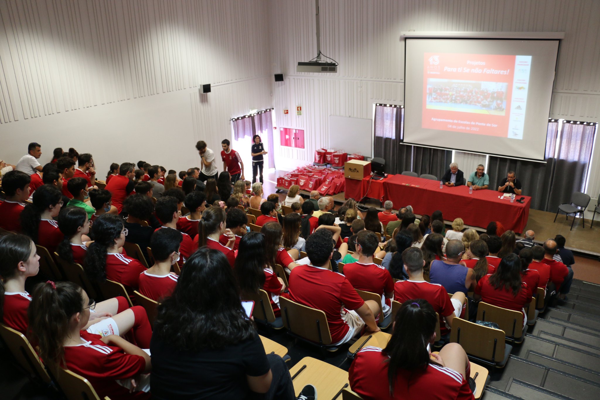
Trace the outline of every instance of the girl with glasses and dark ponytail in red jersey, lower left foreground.
<instances>
[{"instance_id":1,"label":"girl with glasses and dark ponytail in red jersey, lower left foreground","mask_svg":"<svg viewBox=\"0 0 600 400\"><path fill-rule=\"evenodd\" d=\"M82 375L101 398L149 399L148 375L137 380L151 370L150 356L118 333L102 337L86 332L94 308L94 300L72 282L39 284L28 315L41 359L55 373L62 367Z\"/></svg>"}]
</instances>

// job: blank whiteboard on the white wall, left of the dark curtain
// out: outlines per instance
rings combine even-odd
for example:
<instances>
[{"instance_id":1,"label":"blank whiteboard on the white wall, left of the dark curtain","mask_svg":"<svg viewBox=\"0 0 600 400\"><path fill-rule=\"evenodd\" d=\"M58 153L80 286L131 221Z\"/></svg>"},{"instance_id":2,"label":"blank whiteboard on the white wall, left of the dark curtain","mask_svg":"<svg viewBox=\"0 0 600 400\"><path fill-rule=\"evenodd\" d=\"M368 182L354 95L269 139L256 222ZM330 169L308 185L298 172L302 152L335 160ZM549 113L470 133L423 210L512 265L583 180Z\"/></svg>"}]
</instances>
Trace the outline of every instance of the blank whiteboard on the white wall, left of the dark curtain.
<instances>
[{"instance_id":1,"label":"blank whiteboard on the white wall, left of the dark curtain","mask_svg":"<svg viewBox=\"0 0 600 400\"><path fill-rule=\"evenodd\" d=\"M329 148L373 158L373 120L330 115Z\"/></svg>"}]
</instances>

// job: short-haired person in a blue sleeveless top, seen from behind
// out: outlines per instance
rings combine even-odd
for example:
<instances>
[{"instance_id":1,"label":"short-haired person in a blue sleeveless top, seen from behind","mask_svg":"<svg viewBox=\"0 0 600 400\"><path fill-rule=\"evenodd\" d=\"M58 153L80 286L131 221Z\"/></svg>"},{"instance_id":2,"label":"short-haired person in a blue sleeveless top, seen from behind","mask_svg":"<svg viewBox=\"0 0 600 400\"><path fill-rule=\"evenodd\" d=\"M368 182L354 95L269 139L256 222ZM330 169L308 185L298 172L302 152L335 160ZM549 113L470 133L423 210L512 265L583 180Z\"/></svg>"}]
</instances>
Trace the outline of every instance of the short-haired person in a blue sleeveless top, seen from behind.
<instances>
[{"instance_id":1,"label":"short-haired person in a blue sleeveless top, seen from behind","mask_svg":"<svg viewBox=\"0 0 600 400\"><path fill-rule=\"evenodd\" d=\"M461 264L464 245L460 240L448 240L446 244L446 260L433 260L429 271L431 283L442 285L448 293L461 291L467 294L476 285L473 269Z\"/></svg>"}]
</instances>

